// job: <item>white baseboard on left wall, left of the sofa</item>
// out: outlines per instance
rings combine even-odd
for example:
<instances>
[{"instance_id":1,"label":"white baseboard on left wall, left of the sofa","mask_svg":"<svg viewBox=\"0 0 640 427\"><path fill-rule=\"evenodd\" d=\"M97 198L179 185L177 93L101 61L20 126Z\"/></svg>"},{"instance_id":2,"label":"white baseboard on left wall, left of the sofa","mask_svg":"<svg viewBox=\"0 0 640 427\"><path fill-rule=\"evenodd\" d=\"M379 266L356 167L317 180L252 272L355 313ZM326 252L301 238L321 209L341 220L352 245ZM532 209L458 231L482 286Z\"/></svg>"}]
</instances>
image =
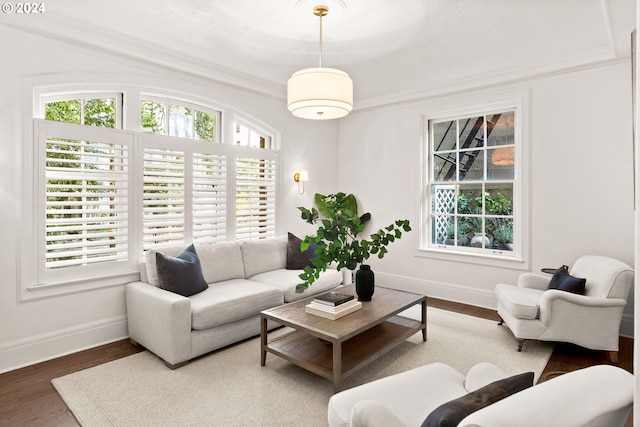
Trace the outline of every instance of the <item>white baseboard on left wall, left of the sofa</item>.
<instances>
[{"instance_id":1,"label":"white baseboard on left wall, left of the sofa","mask_svg":"<svg viewBox=\"0 0 640 427\"><path fill-rule=\"evenodd\" d=\"M0 346L0 374L129 336L126 316L104 319Z\"/></svg>"}]
</instances>

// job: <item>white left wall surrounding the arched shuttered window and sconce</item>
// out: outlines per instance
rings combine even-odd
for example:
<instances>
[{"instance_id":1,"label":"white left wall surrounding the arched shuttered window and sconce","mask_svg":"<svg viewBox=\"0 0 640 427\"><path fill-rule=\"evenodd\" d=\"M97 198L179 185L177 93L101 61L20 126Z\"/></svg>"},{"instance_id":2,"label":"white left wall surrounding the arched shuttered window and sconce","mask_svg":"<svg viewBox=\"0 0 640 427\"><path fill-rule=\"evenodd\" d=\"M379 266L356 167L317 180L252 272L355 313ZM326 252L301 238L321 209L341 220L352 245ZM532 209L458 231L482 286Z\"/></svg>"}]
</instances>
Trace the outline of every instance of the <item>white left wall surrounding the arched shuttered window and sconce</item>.
<instances>
[{"instance_id":1,"label":"white left wall surrounding the arched shuttered window and sconce","mask_svg":"<svg viewBox=\"0 0 640 427\"><path fill-rule=\"evenodd\" d=\"M0 372L127 336L123 286L19 302L18 244L21 228L21 147L31 144L34 85L87 83L144 85L185 97L210 99L223 113L262 120L281 134L281 199L278 233L302 233L295 206L310 205L314 191L337 185L337 123L294 118L281 99L221 85L148 63L0 27ZM19 42L17 42L19 41ZM308 169L308 191L293 182ZM28 179L22 185L32 185Z\"/></svg>"}]
</instances>

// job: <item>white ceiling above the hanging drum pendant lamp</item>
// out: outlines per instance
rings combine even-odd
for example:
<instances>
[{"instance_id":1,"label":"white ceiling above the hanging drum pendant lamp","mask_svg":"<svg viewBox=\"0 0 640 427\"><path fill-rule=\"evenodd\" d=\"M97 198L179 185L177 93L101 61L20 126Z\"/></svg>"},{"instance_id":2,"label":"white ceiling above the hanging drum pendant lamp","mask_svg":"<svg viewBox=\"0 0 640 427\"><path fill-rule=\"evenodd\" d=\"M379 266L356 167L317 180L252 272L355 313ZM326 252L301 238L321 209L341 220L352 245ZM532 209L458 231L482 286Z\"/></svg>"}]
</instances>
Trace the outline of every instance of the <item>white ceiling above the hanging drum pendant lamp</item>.
<instances>
[{"instance_id":1,"label":"white ceiling above the hanging drum pendant lamp","mask_svg":"<svg viewBox=\"0 0 640 427\"><path fill-rule=\"evenodd\" d=\"M628 57L635 26L634 0L343 1L322 65L351 75L356 109ZM318 18L296 2L55 0L0 23L284 99L319 59Z\"/></svg>"}]
</instances>

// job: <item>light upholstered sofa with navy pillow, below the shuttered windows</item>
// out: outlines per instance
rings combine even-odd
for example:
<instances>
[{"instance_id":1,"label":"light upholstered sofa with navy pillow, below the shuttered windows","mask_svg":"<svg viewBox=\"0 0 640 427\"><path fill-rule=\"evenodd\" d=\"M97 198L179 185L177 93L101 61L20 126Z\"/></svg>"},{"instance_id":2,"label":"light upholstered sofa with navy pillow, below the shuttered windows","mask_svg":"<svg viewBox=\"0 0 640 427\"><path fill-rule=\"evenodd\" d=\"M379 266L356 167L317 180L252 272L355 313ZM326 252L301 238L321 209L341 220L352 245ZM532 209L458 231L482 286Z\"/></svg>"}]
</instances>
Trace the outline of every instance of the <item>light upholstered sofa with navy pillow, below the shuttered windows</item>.
<instances>
[{"instance_id":1,"label":"light upholstered sofa with navy pillow, below the shuttered windows","mask_svg":"<svg viewBox=\"0 0 640 427\"><path fill-rule=\"evenodd\" d=\"M191 359L260 334L260 312L333 289L342 274L327 269L304 293L300 270L287 270L287 237L196 244L209 285L190 297L159 287L156 251L145 253L141 280L126 286L131 340L174 369ZM186 245L158 250L176 257Z\"/></svg>"}]
</instances>

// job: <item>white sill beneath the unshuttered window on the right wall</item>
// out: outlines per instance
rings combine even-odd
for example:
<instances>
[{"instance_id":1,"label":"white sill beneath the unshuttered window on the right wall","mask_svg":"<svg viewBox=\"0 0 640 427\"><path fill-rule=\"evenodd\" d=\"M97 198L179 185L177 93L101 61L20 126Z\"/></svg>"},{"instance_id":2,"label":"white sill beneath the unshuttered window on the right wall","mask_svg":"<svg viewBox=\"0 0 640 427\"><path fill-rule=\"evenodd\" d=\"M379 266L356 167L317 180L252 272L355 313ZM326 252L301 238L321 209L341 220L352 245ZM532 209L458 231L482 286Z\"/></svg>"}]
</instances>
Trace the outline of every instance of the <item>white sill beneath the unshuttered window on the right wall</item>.
<instances>
[{"instance_id":1,"label":"white sill beneath the unshuttered window on the right wall","mask_svg":"<svg viewBox=\"0 0 640 427\"><path fill-rule=\"evenodd\" d=\"M465 264L479 264L484 266L507 268L511 270L529 270L529 263L517 254L506 257L502 253L510 251L495 250L493 253L462 252L443 248L420 248L415 256L441 261L453 261Z\"/></svg>"}]
</instances>

